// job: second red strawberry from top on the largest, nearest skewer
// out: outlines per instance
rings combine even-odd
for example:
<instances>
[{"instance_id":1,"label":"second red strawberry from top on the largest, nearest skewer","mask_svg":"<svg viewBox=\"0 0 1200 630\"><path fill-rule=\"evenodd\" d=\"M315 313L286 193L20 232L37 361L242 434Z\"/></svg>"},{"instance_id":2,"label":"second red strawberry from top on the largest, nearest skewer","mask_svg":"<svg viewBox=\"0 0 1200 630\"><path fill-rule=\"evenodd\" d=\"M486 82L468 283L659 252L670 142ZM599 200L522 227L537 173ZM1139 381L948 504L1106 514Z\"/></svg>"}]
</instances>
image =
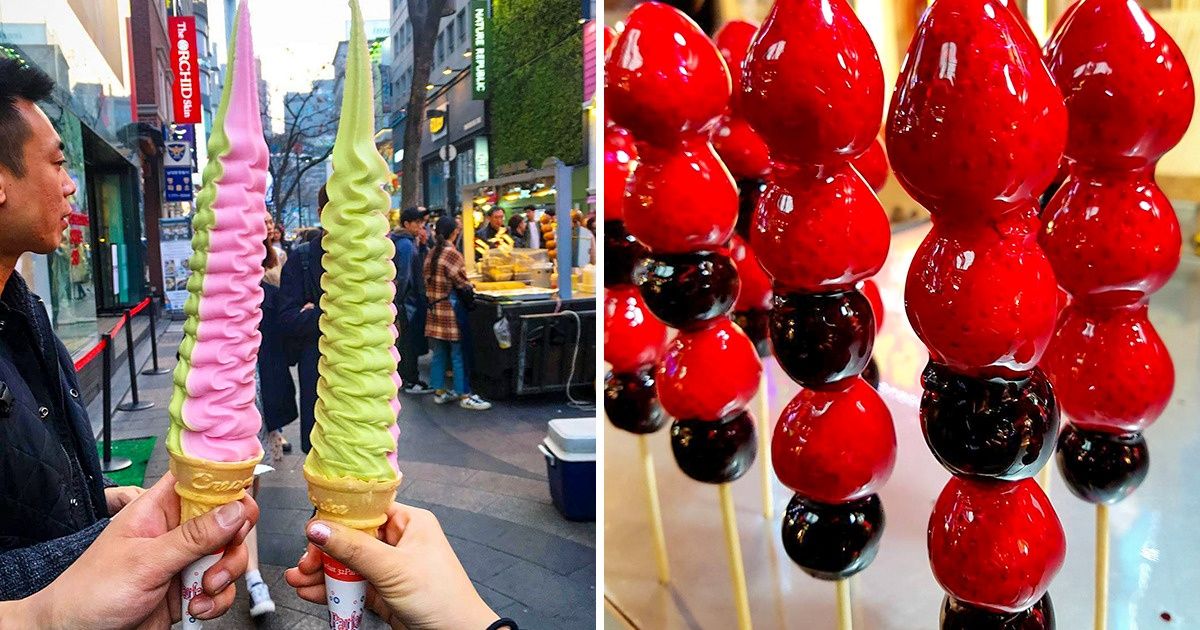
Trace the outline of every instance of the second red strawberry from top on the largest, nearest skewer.
<instances>
[{"instance_id":1,"label":"second red strawberry from top on the largest, nearest skewer","mask_svg":"<svg viewBox=\"0 0 1200 630\"><path fill-rule=\"evenodd\" d=\"M1058 312L1037 229L1032 203L988 229L934 224L905 284L908 320L932 360L979 376L1016 376L1038 364Z\"/></svg>"}]
</instances>

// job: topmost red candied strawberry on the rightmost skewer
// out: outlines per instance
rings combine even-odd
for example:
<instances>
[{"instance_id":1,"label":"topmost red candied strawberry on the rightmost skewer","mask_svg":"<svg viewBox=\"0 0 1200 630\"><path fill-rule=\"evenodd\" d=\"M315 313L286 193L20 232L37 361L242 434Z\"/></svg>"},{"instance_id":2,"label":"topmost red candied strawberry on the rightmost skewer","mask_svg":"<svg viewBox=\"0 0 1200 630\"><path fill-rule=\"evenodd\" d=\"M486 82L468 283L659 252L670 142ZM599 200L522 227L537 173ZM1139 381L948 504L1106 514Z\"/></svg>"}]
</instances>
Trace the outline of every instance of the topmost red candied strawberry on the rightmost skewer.
<instances>
[{"instance_id":1,"label":"topmost red candied strawberry on the rightmost skewer","mask_svg":"<svg viewBox=\"0 0 1200 630\"><path fill-rule=\"evenodd\" d=\"M1180 47L1138 2L1076 2L1046 60L1070 112L1067 156L1110 169L1148 166L1188 128L1195 88Z\"/></svg>"}]
</instances>

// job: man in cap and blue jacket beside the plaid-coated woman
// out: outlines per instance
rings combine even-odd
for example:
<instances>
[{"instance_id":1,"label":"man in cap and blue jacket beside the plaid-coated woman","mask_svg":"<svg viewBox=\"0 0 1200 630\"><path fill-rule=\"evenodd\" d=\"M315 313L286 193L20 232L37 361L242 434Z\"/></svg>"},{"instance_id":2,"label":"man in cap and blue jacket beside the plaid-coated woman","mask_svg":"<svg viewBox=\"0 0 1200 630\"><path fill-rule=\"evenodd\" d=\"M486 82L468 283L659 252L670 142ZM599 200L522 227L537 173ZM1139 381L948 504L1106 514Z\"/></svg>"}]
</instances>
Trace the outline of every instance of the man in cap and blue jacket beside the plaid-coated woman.
<instances>
[{"instance_id":1,"label":"man in cap and blue jacket beside the plaid-coated woman","mask_svg":"<svg viewBox=\"0 0 1200 630\"><path fill-rule=\"evenodd\" d=\"M396 325L400 338L400 378L406 394L430 394L433 391L421 380L416 359L425 347L425 218L430 211L424 208L406 208L400 214L400 233L392 236L396 244Z\"/></svg>"}]
</instances>

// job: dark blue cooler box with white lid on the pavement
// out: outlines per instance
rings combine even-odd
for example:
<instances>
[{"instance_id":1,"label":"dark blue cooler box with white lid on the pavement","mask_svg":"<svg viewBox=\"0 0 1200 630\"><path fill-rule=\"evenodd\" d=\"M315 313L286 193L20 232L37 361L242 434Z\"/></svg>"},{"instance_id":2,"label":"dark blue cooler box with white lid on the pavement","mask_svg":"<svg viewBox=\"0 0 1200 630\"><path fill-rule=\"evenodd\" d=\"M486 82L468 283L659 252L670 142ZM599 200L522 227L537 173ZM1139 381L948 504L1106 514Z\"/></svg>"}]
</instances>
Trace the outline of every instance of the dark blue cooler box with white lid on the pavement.
<instances>
[{"instance_id":1,"label":"dark blue cooler box with white lid on the pavement","mask_svg":"<svg viewBox=\"0 0 1200 630\"><path fill-rule=\"evenodd\" d=\"M550 498L569 521L596 520L596 419L550 421L538 450L546 457Z\"/></svg>"}]
</instances>

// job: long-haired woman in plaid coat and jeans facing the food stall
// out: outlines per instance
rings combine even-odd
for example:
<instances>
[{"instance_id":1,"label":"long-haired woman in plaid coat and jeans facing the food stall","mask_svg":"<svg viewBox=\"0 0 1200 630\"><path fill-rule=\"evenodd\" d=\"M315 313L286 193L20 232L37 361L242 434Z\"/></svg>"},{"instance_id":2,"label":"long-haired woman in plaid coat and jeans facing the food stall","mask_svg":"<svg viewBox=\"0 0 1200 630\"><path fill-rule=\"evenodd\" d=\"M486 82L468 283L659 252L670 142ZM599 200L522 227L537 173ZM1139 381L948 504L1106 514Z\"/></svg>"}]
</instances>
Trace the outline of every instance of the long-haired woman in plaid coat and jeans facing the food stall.
<instances>
[{"instance_id":1,"label":"long-haired woman in plaid coat and jeans facing the food stall","mask_svg":"<svg viewBox=\"0 0 1200 630\"><path fill-rule=\"evenodd\" d=\"M433 402L445 404L457 400L463 409L482 410L492 403L470 392L463 366L462 336L455 317L456 289L470 287L467 280L467 263L455 248L458 223L448 216L438 220L434 244L425 257L425 296L430 307L425 316L425 336L433 350L430 383L434 389ZM446 364L454 368L454 389L445 388Z\"/></svg>"}]
</instances>

